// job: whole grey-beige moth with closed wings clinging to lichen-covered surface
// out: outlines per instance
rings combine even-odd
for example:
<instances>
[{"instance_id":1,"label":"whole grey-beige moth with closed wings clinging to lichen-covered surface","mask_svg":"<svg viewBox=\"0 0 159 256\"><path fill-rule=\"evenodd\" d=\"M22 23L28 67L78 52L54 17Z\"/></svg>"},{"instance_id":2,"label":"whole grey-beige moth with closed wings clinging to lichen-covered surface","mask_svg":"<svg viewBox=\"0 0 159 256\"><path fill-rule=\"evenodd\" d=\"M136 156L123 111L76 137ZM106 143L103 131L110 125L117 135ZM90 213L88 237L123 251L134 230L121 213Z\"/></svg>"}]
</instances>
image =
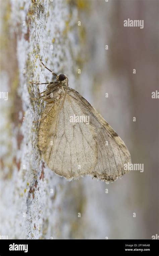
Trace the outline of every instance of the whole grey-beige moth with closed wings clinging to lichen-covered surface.
<instances>
[{"instance_id":1,"label":"whole grey-beige moth with closed wings clinging to lichen-covered surface","mask_svg":"<svg viewBox=\"0 0 159 256\"><path fill-rule=\"evenodd\" d=\"M69 181L86 175L106 183L121 178L129 172L124 164L131 163L124 142L97 110L69 87L65 74L55 74L40 61L56 76L55 82L36 83L48 84L41 93L46 105L38 133L38 147L48 167ZM89 117L89 123L85 118L72 122L74 116Z\"/></svg>"}]
</instances>

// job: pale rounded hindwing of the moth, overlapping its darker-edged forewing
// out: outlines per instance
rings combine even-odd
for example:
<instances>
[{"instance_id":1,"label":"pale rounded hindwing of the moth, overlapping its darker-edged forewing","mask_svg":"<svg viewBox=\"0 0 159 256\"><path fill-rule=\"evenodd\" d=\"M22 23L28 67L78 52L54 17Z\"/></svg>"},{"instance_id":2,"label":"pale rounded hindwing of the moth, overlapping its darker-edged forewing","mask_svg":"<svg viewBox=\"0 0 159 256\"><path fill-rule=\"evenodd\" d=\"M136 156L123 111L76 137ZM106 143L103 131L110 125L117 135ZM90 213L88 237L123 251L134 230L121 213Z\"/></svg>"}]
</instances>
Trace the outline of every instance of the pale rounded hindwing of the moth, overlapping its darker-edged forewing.
<instances>
[{"instance_id":1,"label":"pale rounded hindwing of the moth, overlapping its darker-edged forewing","mask_svg":"<svg viewBox=\"0 0 159 256\"><path fill-rule=\"evenodd\" d=\"M88 174L94 168L97 156L93 127L70 122L69 117L74 113L84 115L77 102L72 100L67 94L63 108L59 105L44 152L48 166L69 180Z\"/></svg>"}]
</instances>

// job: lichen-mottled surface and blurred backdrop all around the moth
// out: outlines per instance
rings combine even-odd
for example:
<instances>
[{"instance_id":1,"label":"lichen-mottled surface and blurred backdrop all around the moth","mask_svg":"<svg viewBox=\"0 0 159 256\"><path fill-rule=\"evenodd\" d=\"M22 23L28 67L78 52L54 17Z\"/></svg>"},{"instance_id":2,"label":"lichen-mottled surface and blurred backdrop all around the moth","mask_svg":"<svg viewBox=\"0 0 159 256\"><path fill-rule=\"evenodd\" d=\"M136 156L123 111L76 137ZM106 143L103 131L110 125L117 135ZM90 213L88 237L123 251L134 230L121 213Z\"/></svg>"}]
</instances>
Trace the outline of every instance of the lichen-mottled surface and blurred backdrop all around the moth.
<instances>
[{"instance_id":1,"label":"lichen-mottled surface and blurred backdrop all around the moth","mask_svg":"<svg viewBox=\"0 0 159 256\"><path fill-rule=\"evenodd\" d=\"M159 233L159 108L152 98L159 91L158 1L0 0L0 5L0 91L8 92L8 100L0 99L0 235L151 239ZM127 19L144 20L144 28L124 27ZM144 164L143 172L132 170L105 184L90 177L68 182L47 168L33 125L44 105L32 100L45 86L29 81L53 77L38 54L55 73L67 74L69 86L111 125L132 163Z\"/></svg>"}]
</instances>

